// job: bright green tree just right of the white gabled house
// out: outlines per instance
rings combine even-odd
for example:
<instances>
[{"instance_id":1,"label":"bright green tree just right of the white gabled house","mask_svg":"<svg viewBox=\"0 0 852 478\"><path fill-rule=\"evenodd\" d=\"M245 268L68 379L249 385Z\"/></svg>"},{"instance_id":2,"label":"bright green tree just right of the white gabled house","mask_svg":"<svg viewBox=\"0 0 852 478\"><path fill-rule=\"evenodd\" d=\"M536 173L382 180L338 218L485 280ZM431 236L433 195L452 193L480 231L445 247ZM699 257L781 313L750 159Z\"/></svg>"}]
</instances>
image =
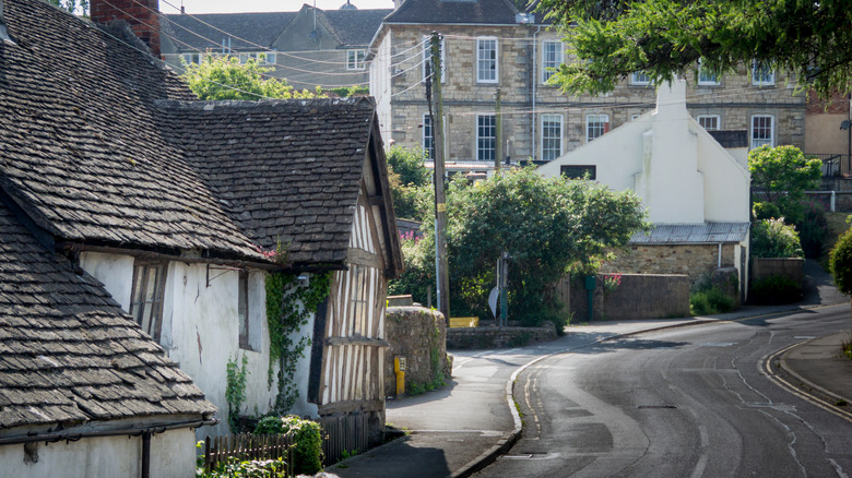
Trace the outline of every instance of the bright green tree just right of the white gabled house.
<instances>
[{"instance_id":1,"label":"bright green tree just right of the white gabled house","mask_svg":"<svg viewBox=\"0 0 852 478\"><path fill-rule=\"evenodd\" d=\"M760 146L748 153L752 187L778 206L788 223L804 219L805 191L819 188L819 159L807 159L795 146Z\"/></svg>"}]
</instances>

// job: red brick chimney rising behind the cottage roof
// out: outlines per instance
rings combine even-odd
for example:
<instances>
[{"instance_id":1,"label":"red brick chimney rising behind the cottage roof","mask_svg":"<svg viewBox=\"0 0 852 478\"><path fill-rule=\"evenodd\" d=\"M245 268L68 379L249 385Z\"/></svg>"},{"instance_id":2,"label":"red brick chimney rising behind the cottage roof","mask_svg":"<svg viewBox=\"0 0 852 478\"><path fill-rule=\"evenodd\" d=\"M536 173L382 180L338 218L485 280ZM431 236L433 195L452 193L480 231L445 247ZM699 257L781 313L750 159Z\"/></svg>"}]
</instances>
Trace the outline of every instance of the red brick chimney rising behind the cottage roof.
<instances>
[{"instance_id":1,"label":"red brick chimney rising behind the cottage roof","mask_svg":"<svg viewBox=\"0 0 852 478\"><path fill-rule=\"evenodd\" d=\"M123 20L159 58L159 0L92 0L90 16L95 23Z\"/></svg>"}]
</instances>

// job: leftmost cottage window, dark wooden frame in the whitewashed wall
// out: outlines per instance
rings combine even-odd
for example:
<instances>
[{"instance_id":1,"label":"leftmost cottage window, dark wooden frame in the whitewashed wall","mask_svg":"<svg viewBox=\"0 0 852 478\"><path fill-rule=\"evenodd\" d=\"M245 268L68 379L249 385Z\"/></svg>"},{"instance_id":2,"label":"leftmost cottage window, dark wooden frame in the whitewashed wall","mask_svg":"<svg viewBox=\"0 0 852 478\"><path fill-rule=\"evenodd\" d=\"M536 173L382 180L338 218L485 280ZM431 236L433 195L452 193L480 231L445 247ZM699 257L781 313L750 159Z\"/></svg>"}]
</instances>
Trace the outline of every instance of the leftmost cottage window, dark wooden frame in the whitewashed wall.
<instances>
[{"instance_id":1,"label":"leftmost cottage window, dark wooden frame in the whitewashed wall","mask_svg":"<svg viewBox=\"0 0 852 478\"><path fill-rule=\"evenodd\" d=\"M130 314L155 342L159 342L163 325L163 291L166 288L166 262L133 263L133 287L130 292Z\"/></svg>"}]
</instances>

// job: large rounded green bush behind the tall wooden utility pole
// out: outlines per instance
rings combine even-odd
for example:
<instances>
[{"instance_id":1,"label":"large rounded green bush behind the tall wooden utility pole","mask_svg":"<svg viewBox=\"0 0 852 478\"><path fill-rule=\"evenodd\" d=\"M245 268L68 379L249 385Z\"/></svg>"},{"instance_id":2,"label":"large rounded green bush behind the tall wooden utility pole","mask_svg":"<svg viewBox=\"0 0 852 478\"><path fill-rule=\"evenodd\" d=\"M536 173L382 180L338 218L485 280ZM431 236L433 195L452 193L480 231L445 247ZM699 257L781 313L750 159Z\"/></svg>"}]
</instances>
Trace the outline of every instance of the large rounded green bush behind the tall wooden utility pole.
<instances>
[{"instance_id":1,"label":"large rounded green bush behind the tall wooden utility pole","mask_svg":"<svg viewBox=\"0 0 852 478\"><path fill-rule=\"evenodd\" d=\"M423 294L435 277L433 213L425 237L405 244L406 272L394 291ZM533 169L496 175L476 186L463 179L447 194L450 309L489 315L488 292L502 252L509 254L509 316L525 325L565 325L553 284L572 264L591 264L644 227L640 200L591 181L546 179ZM412 254L410 255L409 252ZM423 296L415 296L423 300Z\"/></svg>"}]
</instances>

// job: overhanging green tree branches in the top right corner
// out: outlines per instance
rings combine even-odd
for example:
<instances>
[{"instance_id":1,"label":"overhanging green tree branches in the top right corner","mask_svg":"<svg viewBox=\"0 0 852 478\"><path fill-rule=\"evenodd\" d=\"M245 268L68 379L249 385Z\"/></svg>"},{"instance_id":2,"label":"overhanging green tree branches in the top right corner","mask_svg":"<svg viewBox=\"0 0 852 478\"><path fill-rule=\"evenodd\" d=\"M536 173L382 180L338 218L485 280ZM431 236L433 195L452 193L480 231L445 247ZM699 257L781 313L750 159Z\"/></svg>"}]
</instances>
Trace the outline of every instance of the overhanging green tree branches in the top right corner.
<instances>
[{"instance_id":1,"label":"overhanging green tree branches in the top right corner","mask_svg":"<svg viewBox=\"0 0 852 478\"><path fill-rule=\"evenodd\" d=\"M578 60L554 79L573 93L612 91L637 71L659 84L699 60L714 72L756 61L792 72L824 97L852 85L845 0L541 0L539 11Z\"/></svg>"}]
</instances>

